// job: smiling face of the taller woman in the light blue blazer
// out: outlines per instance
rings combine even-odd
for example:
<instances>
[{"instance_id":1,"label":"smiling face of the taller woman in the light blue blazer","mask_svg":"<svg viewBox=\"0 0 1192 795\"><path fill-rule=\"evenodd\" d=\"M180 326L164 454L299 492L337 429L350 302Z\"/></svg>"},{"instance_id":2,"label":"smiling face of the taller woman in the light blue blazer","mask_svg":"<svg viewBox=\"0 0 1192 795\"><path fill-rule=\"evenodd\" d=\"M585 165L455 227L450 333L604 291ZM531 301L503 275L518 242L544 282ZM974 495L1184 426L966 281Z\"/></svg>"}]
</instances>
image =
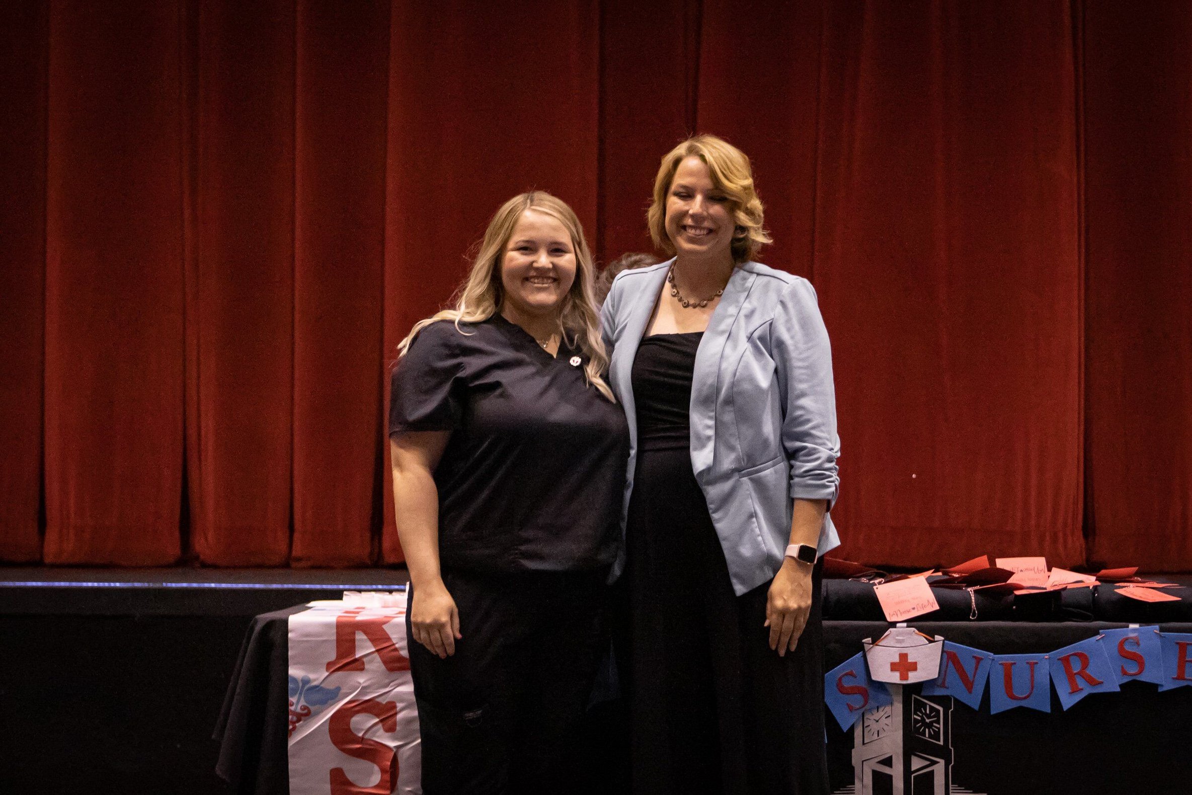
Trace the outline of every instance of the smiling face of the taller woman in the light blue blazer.
<instances>
[{"instance_id":1,"label":"smiling face of the taller woman in the light blue blazer","mask_svg":"<svg viewBox=\"0 0 1192 795\"><path fill-rule=\"evenodd\" d=\"M712 181L696 155L675 169L666 194L666 236L681 257L732 260L733 221L728 195Z\"/></svg>"}]
</instances>

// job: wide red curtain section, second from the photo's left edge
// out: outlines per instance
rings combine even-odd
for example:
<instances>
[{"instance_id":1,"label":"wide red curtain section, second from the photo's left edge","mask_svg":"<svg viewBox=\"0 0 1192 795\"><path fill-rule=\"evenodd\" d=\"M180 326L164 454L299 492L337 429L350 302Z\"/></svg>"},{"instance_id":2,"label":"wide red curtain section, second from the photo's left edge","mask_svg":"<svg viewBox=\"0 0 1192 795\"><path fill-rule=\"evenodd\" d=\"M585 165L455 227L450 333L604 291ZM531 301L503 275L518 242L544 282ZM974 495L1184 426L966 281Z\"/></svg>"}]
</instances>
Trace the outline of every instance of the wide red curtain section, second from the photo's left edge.
<instances>
[{"instance_id":1,"label":"wide red curtain section, second from the photo's left edge","mask_svg":"<svg viewBox=\"0 0 1192 795\"><path fill-rule=\"evenodd\" d=\"M179 6L50 5L46 563L180 552Z\"/></svg>"}]
</instances>

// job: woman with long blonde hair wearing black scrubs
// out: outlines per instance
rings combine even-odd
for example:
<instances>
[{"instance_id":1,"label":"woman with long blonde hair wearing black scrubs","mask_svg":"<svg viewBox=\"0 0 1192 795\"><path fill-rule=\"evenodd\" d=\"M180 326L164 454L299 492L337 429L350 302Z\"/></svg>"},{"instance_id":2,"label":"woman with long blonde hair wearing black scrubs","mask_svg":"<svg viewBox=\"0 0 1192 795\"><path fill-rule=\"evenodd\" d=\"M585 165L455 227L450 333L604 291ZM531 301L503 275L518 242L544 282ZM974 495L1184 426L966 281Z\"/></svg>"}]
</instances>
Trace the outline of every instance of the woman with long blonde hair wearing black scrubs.
<instances>
[{"instance_id":1,"label":"woman with long blonde hair wearing black scrubs","mask_svg":"<svg viewBox=\"0 0 1192 795\"><path fill-rule=\"evenodd\" d=\"M422 787L558 793L607 645L628 431L602 379L575 213L507 201L452 310L414 327L390 403Z\"/></svg>"}]
</instances>

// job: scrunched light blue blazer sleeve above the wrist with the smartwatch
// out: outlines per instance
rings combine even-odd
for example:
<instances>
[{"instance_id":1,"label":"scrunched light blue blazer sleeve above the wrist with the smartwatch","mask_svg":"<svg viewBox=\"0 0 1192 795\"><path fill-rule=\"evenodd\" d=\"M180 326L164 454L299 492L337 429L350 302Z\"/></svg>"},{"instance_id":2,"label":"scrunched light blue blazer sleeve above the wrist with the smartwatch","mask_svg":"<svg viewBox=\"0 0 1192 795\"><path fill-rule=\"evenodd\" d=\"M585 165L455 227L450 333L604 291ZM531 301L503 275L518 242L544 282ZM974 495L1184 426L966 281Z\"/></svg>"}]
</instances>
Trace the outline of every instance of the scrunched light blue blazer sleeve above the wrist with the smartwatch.
<instances>
[{"instance_id":1,"label":"scrunched light blue blazer sleeve above the wrist with the smartwatch","mask_svg":"<svg viewBox=\"0 0 1192 795\"><path fill-rule=\"evenodd\" d=\"M770 327L770 349L784 409L782 447L790 462L790 496L826 499L831 510L840 487L832 349L815 288L806 279L784 288Z\"/></svg>"}]
</instances>

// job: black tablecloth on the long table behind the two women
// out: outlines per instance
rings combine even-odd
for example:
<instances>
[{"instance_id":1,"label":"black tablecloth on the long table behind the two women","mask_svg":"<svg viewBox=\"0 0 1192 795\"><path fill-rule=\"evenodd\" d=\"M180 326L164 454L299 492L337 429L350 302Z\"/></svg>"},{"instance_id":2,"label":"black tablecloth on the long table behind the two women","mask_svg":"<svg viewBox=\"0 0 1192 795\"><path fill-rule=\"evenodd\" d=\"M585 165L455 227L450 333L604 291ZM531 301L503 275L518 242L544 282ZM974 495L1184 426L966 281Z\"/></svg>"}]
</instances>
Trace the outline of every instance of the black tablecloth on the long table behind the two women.
<instances>
[{"instance_id":1,"label":"black tablecloth on the long table behind the two women","mask_svg":"<svg viewBox=\"0 0 1192 795\"><path fill-rule=\"evenodd\" d=\"M863 620L881 611L873 586L851 580L825 583L825 670L862 651L862 640L880 638L889 625ZM939 589L935 589L939 590ZM912 621L929 635L994 654L1047 653L1095 636L1103 629L1157 623L1163 632L1192 632L1180 603L1143 604L1117 596L1113 588L1075 589L1035 600L977 602L980 620L970 621L967 591L937 595L940 610ZM249 629L217 729L219 775L236 793L286 795L287 781L287 619L302 607L257 616ZM1106 619L1120 615L1119 620ZM850 620L855 616L857 620ZM1026 617L1050 619L1043 621ZM955 620L951 620L955 619ZM985 620L991 619L991 620ZM998 620L1000 619L1000 620ZM1084 620L1081 620L1084 619ZM1180 620L1182 619L1182 620ZM906 688L907 697L918 690ZM989 696L980 709L939 698L950 706L952 793L987 795L1095 795L1100 793L1184 793L1192 790L1192 688L1160 691L1130 682L1119 692L1093 694L1062 710L1051 694L1051 712L1028 708L991 714ZM623 723L616 704L589 714L585 737L592 770L591 793L619 793ZM828 718L832 791L853 791L853 731ZM931 791L936 791L935 789ZM907 795L912 795L907 793ZM917 793L914 795L918 795Z\"/></svg>"}]
</instances>

